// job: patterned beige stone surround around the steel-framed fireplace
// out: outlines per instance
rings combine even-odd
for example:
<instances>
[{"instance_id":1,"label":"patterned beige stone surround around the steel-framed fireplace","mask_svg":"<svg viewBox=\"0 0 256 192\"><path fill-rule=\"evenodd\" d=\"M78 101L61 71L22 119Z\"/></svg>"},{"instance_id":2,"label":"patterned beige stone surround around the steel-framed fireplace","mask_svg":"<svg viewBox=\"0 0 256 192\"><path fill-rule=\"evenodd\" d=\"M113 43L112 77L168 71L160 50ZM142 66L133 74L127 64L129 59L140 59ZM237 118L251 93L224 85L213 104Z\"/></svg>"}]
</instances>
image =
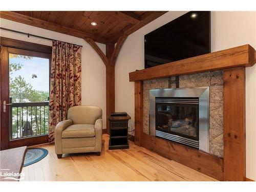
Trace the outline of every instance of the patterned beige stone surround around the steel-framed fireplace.
<instances>
[{"instance_id":1,"label":"patterned beige stone surround around the steel-framed fireplace","mask_svg":"<svg viewBox=\"0 0 256 192\"><path fill-rule=\"evenodd\" d=\"M178 83L176 83L176 78ZM210 87L210 155L223 158L223 71L211 71L143 81L143 132L149 134L149 90Z\"/></svg>"}]
</instances>

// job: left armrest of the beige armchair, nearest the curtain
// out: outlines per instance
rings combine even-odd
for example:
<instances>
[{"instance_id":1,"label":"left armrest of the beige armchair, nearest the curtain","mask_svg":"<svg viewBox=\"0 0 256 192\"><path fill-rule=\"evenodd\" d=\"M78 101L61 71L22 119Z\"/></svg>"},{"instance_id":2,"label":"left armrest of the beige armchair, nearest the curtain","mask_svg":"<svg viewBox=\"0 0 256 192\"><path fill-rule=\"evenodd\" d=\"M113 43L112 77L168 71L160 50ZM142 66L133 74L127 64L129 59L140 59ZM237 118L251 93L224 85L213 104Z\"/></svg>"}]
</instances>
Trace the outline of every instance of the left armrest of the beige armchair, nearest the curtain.
<instances>
[{"instance_id":1,"label":"left armrest of the beige armchair, nearest the curtain","mask_svg":"<svg viewBox=\"0 0 256 192\"><path fill-rule=\"evenodd\" d=\"M62 154L62 131L65 130L68 126L72 125L73 121L71 119L67 119L64 121L60 121L55 127L55 153Z\"/></svg>"}]
</instances>

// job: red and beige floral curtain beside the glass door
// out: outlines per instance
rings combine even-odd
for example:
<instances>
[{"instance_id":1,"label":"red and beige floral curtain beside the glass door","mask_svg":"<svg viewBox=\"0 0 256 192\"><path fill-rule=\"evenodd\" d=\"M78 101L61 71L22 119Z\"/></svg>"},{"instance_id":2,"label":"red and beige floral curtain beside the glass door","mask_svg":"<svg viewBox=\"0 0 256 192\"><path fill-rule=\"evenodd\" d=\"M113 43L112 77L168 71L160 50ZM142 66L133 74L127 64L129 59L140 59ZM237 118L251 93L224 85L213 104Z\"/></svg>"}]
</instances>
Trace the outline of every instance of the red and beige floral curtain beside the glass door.
<instances>
[{"instance_id":1,"label":"red and beige floral curtain beside the glass door","mask_svg":"<svg viewBox=\"0 0 256 192\"><path fill-rule=\"evenodd\" d=\"M68 109L81 104L81 46L53 41L49 100L49 142Z\"/></svg>"}]
</instances>

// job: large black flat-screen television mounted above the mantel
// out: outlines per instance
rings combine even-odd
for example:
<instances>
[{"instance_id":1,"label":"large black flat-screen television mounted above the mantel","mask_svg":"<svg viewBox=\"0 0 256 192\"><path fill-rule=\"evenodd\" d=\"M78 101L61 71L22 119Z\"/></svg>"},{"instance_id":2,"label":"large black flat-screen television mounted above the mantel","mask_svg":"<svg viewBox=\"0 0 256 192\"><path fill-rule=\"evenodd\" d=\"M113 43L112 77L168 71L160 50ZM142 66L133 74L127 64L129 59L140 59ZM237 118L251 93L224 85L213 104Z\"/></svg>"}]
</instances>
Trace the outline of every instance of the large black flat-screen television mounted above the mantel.
<instances>
[{"instance_id":1,"label":"large black flat-screen television mounted above the mantel","mask_svg":"<svg viewBox=\"0 0 256 192\"><path fill-rule=\"evenodd\" d=\"M190 11L144 36L144 66L210 53L210 11Z\"/></svg>"}]
</instances>

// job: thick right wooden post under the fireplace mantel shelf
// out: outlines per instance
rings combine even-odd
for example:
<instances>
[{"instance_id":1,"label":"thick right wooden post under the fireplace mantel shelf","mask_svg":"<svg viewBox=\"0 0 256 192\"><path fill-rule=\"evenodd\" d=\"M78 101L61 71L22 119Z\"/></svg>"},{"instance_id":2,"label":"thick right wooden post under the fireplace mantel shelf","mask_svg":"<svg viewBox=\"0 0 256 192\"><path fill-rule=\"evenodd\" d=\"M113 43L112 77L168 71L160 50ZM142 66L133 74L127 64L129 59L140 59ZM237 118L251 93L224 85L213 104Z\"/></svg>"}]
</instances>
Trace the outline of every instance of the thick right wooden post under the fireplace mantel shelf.
<instances>
[{"instance_id":1,"label":"thick right wooden post under the fireplace mantel shelf","mask_svg":"<svg viewBox=\"0 0 256 192\"><path fill-rule=\"evenodd\" d=\"M224 70L224 181L245 181L245 67Z\"/></svg>"}]
</instances>

